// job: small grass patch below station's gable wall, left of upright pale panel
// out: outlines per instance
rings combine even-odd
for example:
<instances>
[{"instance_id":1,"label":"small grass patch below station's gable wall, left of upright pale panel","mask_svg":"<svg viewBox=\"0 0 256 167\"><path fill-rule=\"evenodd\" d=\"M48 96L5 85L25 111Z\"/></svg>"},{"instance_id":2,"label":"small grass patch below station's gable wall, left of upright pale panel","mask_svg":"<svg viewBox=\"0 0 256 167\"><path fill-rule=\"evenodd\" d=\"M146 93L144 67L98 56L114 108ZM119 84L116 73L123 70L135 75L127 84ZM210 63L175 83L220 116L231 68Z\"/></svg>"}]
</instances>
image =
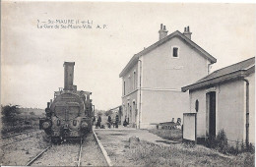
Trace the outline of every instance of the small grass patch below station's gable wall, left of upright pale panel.
<instances>
[{"instance_id":1,"label":"small grass patch below station's gable wall, left of upright pale panel","mask_svg":"<svg viewBox=\"0 0 256 167\"><path fill-rule=\"evenodd\" d=\"M181 130L150 130L150 133L155 134L162 139L182 141Z\"/></svg>"}]
</instances>

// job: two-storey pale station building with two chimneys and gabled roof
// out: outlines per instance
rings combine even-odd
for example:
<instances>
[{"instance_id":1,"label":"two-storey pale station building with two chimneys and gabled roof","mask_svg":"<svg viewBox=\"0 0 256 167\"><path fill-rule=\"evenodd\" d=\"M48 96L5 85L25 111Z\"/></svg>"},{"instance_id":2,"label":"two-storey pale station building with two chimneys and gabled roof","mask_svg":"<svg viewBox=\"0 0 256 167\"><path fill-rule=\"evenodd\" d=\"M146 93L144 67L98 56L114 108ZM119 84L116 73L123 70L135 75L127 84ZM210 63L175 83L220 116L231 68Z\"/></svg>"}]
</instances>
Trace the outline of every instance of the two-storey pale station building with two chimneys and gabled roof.
<instances>
[{"instance_id":1,"label":"two-storey pale station building with two chimneys and gabled roof","mask_svg":"<svg viewBox=\"0 0 256 167\"><path fill-rule=\"evenodd\" d=\"M135 54L124 67L122 122L139 129L182 118L189 111L188 92L181 87L207 76L217 60L191 39L189 27L167 34L160 26L159 41Z\"/></svg>"}]
</instances>

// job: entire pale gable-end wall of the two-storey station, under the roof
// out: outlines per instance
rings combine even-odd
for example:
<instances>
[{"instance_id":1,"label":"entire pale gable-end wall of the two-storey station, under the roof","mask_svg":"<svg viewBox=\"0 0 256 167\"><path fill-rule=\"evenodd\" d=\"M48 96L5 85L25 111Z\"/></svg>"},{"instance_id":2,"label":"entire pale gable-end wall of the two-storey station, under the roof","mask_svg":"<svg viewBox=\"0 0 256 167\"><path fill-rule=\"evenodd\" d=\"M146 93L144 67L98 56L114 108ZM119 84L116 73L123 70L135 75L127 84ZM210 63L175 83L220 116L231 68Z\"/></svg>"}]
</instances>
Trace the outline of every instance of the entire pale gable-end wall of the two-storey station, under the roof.
<instances>
[{"instance_id":1,"label":"entire pale gable-end wall of the two-storey station, under the roof","mask_svg":"<svg viewBox=\"0 0 256 167\"><path fill-rule=\"evenodd\" d=\"M172 57L173 46L179 48L178 58ZM189 112L189 98L188 92L181 92L181 87L207 76L207 62L201 53L178 36L144 55L142 127L172 118L182 119L183 113Z\"/></svg>"}]
</instances>

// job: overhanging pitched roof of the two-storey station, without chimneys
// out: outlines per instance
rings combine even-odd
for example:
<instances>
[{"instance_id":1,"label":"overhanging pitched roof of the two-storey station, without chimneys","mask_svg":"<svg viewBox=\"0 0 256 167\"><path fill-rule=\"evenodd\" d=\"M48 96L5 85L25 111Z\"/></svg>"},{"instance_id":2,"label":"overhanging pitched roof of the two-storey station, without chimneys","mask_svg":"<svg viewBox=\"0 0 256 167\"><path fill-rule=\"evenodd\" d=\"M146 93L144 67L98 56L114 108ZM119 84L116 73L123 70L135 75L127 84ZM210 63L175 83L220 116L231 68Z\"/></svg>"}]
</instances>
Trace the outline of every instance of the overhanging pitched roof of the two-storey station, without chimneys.
<instances>
[{"instance_id":1,"label":"overhanging pitched roof of the two-storey station, without chimneys","mask_svg":"<svg viewBox=\"0 0 256 167\"><path fill-rule=\"evenodd\" d=\"M217 59L214 58L212 55L210 55L207 51L205 51L203 48L201 48L199 45L197 45L195 42L193 42L191 39L189 39L188 37L186 37L183 33L181 33L180 31L176 30L172 33L170 33L169 35L167 35L166 37L160 39L159 41L157 41L156 43L152 44L151 46L145 48L144 50L140 51L139 53L135 54L130 61L128 62L128 64L125 66L125 68L122 70L122 72L119 74L119 77L123 77L123 75L130 70L135 63L138 62L138 59L146 54L149 53L150 51L154 50L155 48L157 48L158 46L160 46L161 44L163 44L164 42L168 41L169 39L171 39L174 36L179 36L181 37L183 40L185 40L188 44L190 44L192 47L196 48L199 52L201 52L208 60L210 60L211 63L216 63Z\"/></svg>"}]
</instances>

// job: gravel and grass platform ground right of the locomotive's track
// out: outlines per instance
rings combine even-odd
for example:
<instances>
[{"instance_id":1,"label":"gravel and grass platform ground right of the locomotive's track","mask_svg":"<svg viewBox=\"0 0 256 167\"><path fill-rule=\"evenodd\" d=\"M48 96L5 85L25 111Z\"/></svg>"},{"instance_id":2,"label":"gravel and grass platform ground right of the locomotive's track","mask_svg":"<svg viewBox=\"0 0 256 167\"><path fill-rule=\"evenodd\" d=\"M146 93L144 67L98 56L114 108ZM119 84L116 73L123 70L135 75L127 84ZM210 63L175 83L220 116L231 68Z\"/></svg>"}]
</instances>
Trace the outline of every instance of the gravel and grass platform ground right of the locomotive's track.
<instances>
[{"instance_id":1,"label":"gravel and grass platform ground right of the locomotive's track","mask_svg":"<svg viewBox=\"0 0 256 167\"><path fill-rule=\"evenodd\" d=\"M226 156L202 145L153 141L141 130L96 131L114 166L254 166L254 155ZM129 142L131 137L138 142ZM157 139L157 138L156 138Z\"/></svg>"}]
</instances>

